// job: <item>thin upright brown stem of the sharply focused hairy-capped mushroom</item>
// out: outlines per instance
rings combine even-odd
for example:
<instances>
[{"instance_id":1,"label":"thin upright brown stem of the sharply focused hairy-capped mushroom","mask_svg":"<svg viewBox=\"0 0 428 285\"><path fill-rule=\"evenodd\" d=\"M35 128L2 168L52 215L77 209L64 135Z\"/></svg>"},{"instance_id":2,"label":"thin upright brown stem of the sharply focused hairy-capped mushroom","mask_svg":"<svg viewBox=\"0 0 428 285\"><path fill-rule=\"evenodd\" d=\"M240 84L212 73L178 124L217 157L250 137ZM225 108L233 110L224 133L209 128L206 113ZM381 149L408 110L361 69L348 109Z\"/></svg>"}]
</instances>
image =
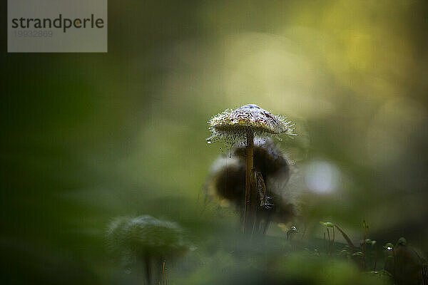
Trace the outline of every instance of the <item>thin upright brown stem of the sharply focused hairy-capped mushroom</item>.
<instances>
[{"instance_id":1,"label":"thin upright brown stem of the sharply focused hairy-capped mushroom","mask_svg":"<svg viewBox=\"0 0 428 285\"><path fill-rule=\"evenodd\" d=\"M253 149L254 149L254 133L248 129L247 132L247 172L245 173L245 210L244 210L244 232L252 232L253 221L251 214L251 170L253 169Z\"/></svg>"}]
</instances>

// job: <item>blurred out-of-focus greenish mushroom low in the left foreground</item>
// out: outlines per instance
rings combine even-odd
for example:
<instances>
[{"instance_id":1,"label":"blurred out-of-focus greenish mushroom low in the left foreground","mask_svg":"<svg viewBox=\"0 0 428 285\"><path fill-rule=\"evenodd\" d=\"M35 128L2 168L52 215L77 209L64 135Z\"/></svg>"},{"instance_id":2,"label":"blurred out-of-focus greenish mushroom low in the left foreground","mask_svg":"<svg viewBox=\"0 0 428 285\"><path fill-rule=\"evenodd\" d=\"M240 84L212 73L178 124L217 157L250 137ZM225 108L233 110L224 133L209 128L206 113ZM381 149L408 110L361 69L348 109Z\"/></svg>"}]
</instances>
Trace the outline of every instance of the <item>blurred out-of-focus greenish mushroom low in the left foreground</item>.
<instances>
[{"instance_id":1,"label":"blurred out-of-focus greenish mushroom low in the left foreground","mask_svg":"<svg viewBox=\"0 0 428 285\"><path fill-rule=\"evenodd\" d=\"M148 285L158 284L163 278L163 260L189 249L178 224L148 215L116 217L108 226L107 239L111 251L127 265L133 261L143 264Z\"/></svg>"}]
</instances>

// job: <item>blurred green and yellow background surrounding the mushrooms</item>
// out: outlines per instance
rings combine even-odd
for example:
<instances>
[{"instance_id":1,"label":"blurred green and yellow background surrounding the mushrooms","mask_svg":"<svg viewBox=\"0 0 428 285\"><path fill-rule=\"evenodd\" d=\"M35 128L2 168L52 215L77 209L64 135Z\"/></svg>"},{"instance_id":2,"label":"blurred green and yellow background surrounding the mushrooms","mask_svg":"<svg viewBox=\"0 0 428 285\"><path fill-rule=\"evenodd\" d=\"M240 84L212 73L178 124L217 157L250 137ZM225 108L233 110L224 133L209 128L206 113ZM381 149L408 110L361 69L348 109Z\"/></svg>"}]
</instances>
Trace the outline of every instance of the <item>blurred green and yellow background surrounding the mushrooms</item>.
<instances>
[{"instance_id":1,"label":"blurred green and yellow background surrounding the mushrooms","mask_svg":"<svg viewBox=\"0 0 428 285\"><path fill-rule=\"evenodd\" d=\"M109 1L108 11L106 54L2 45L0 283L141 284L110 258L105 233L113 217L151 214L195 244L167 264L168 284L370 284L343 260L279 254L270 266L267 250L257 274L234 255L238 216L205 202L224 151L206 143L206 122L247 103L296 123L300 135L278 143L298 168L290 187L305 192L308 239L330 221L359 244L365 219L379 244L404 236L428 253L427 3ZM275 224L268 234L287 246Z\"/></svg>"}]
</instances>

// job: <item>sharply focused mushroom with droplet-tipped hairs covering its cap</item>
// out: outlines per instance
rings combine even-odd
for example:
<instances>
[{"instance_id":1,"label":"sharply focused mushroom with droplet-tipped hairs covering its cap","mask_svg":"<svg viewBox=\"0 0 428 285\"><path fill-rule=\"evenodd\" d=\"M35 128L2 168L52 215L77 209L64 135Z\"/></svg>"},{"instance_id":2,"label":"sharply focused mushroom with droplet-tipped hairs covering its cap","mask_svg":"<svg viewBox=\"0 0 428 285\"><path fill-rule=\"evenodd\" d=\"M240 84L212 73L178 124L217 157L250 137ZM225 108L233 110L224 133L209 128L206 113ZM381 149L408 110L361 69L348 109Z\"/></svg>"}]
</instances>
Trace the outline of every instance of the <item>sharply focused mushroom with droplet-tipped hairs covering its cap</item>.
<instances>
[{"instance_id":1,"label":"sharply focused mushroom with droplet-tipped hairs covering its cap","mask_svg":"<svg viewBox=\"0 0 428 285\"><path fill-rule=\"evenodd\" d=\"M263 187L264 182L253 172L253 148L254 138L265 138L268 135L293 133L293 124L279 115L272 115L255 104L243 105L235 110L225 110L223 113L213 116L208 123L213 133L208 138L208 143L213 140L224 140L231 145L237 143L245 144L246 171L245 171L245 207L243 219L243 231L253 232L254 209L256 190L253 188ZM252 193L254 192L254 193ZM253 195L252 195L253 194Z\"/></svg>"}]
</instances>

